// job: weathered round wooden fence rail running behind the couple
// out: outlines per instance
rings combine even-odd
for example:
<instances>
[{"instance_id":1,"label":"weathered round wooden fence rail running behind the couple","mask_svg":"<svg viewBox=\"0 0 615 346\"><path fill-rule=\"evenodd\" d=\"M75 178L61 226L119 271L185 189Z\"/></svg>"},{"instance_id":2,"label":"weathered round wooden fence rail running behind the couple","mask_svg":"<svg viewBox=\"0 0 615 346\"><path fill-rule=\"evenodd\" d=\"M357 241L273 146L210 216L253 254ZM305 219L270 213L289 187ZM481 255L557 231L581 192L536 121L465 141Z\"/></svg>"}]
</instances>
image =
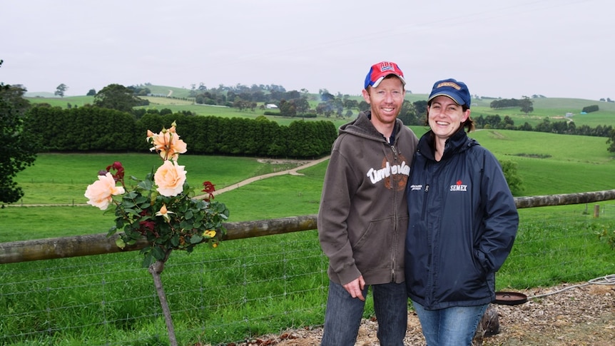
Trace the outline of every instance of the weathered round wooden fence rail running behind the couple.
<instances>
[{"instance_id":1,"label":"weathered round wooden fence rail running behind the couple","mask_svg":"<svg viewBox=\"0 0 615 346\"><path fill-rule=\"evenodd\" d=\"M519 197L514 200L517 208L594 203L601 200L615 200L615 190L562 195L539 195ZM261 237L263 235L298 232L301 230L315 230L317 228L316 220L317 215L313 214L270 220L225 223L227 229L225 240ZM0 264L118 253L141 250L148 245L146 240L143 239L122 250L116 245L116 238L118 237L119 235L117 234L107 237L106 233L98 233L74 237L0 243Z\"/></svg>"}]
</instances>

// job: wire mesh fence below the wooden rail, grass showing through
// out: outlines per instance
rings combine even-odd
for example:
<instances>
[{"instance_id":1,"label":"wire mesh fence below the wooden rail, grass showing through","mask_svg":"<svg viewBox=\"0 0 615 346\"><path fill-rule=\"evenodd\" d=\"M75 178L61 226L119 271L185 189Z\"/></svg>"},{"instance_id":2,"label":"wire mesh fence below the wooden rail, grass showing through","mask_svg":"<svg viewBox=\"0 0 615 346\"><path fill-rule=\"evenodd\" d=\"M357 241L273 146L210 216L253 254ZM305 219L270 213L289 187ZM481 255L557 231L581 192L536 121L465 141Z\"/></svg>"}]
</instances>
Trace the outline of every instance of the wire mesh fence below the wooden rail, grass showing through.
<instances>
[{"instance_id":1,"label":"wire mesh fence below the wooden rail, grass showing through","mask_svg":"<svg viewBox=\"0 0 615 346\"><path fill-rule=\"evenodd\" d=\"M523 210L498 285L526 288L615 273L615 204ZM1 345L168 345L138 253L0 265ZM327 258L317 231L176 252L162 274L180 345L227 345L322 325ZM365 315L372 315L368 299Z\"/></svg>"}]
</instances>

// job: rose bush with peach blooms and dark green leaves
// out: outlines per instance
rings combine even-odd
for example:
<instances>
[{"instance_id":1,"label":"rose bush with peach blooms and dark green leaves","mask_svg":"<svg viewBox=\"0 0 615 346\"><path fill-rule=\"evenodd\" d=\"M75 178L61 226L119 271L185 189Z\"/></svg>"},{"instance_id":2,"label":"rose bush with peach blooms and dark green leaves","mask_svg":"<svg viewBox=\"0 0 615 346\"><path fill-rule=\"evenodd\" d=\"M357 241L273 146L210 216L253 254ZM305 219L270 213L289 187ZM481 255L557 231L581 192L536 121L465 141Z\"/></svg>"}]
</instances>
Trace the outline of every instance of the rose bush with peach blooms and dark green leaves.
<instances>
[{"instance_id":1,"label":"rose bush with peach blooms and dark green leaves","mask_svg":"<svg viewBox=\"0 0 615 346\"><path fill-rule=\"evenodd\" d=\"M215 187L209 181L203 183L203 197L195 198L194 188L186 182L185 166L178 164L187 146L176 132L176 123L160 133L148 130L146 140L163 160L156 172L144 180L131 177L133 185L128 186L122 164L114 162L88 185L87 203L101 210L115 205L115 225L108 235L123 230L116 240L120 248L143 237L148 240L149 245L141 250L144 267L156 260L165 262L171 250L191 252L205 242L216 247L225 235L223 222L229 211L223 203L213 201Z\"/></svg>"}]
</instances>

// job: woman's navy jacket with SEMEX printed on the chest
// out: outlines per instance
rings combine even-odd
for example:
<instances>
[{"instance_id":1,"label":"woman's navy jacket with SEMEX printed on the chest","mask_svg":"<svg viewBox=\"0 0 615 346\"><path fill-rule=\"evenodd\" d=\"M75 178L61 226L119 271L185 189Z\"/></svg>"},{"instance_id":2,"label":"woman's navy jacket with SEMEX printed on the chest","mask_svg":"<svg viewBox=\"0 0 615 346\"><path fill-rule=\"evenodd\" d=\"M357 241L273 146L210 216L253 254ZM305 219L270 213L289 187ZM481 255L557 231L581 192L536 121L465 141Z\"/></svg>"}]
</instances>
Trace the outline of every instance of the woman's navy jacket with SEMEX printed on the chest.
<instances>
[{"instance_id":1,"label":"woman's navy jacket with SEMEX printed on the chest","mask_svg":"<svg viewBox=\"0 0 615 346\"><path fill-rule=\"evenodd\" d=\"M408 296L428 310L495 299L495 272L510 253L519 215L502 168L463 128L435 161L431 131L407 184Z\"/></svg>"}]
</instances>

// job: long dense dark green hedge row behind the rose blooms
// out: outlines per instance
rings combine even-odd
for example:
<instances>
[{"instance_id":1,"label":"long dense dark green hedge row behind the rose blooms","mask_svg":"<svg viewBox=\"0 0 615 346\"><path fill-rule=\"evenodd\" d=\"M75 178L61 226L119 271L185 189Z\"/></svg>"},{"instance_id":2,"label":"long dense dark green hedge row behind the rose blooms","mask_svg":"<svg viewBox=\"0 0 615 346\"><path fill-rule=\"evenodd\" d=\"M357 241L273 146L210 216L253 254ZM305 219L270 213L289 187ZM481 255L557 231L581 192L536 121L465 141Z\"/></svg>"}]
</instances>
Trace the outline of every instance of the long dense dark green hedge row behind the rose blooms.
<instances>
[{"instance_id":1,"label":"long dense dark green hedge row behind the rose blooms","mask_svg":"<svg viewBox=\"0 0 615 346\"><path fill-rule=\"evenodd\" d=\"M315 158L330 153L337 129L330 121L293 121L280 126L259 117L219 118L181 113L129 113L107 108L34 107L24 131L39 138L46 151L148 152L147 130L159 132L176 121L189 153L213 155Z\"/></svg>"}]
</instances>

